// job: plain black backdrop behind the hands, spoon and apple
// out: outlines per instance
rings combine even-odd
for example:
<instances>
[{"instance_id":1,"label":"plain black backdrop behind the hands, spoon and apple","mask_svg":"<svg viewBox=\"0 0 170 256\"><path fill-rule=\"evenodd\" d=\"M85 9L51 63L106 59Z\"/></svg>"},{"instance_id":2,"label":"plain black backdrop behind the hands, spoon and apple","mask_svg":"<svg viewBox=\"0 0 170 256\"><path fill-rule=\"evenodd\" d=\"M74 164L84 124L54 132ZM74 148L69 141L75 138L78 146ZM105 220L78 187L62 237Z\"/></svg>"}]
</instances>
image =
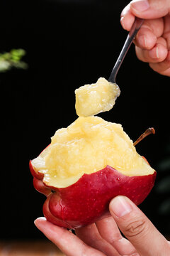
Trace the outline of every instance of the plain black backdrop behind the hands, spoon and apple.
<instances>
[{"instance_id":1,"label":"plain black backdrop behind the hands, spoon and apple","mask_svg":"<svg viewBox=\"0 0 170 256\"><path fill-rule=\"evenodd\" d=\"M0 52L26 50L28 70L0 73L1 82L1 239L43 238L33 220L42 215L45 196L33 188L28 169L50 137L77 118L74 90L108 78L127 31L120 13L128 1L1 1ZM164 234L170 232L157 184L169 157L169 78L155 73L130 48L118 73L121 95L113 110L100 114L123 124L135 141L148 127L156 134L137 145L154 169L156 186L140 208Z\"/></svg>"}]
</instances>

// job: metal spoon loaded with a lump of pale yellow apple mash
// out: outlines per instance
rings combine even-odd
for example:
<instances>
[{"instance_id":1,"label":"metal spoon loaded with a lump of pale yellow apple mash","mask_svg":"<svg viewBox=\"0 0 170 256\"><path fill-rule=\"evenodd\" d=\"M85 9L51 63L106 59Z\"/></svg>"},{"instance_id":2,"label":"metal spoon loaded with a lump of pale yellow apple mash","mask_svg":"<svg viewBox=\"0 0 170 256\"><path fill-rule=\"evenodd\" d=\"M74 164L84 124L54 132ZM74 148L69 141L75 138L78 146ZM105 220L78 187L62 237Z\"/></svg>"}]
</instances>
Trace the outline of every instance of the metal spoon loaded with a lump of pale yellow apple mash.
<instances>
[{"instance_id":1,"label":"metal spoon loaded with a lump of pale yellow apple mash","mask_svg":"<svg viewBox=\"0 0 170 256\"><path fill-rule=\"evenodd\" d=\"M115 82L115 77L137 31L142 25L142 21L141 18L135 18L135 22L130 29L123 49L121 50L108 81L105 78L99 78L95 84L84 85L75 90L76 111L78 116L89 117L101 112L109 111L113 108L115 100L120 95L120 89Z\"/></svg>"}]
</instances>

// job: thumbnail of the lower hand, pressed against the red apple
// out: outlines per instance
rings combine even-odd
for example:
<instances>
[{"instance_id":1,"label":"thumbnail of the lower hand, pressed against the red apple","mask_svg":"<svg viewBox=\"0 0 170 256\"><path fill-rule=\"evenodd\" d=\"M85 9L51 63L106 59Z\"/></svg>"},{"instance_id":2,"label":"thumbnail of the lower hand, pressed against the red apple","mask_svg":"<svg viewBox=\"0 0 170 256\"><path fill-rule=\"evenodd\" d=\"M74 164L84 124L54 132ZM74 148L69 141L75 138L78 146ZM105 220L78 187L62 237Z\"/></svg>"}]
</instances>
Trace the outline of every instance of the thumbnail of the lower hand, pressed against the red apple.
<instances>
[{"instance_id":1,"label":"thumbnail of the lower hand, pressed against the red apple","mask_svg":"<svg viewBox=\"0 0 170 256\"><path fill-rule=\"evenodd\" d=\"M128 198L125 198L124 196L117 196L111 201L110 210L111 213L120 218L130 213L132 211L132 206L130 205Z\"/></svg>"}]
</instances>

